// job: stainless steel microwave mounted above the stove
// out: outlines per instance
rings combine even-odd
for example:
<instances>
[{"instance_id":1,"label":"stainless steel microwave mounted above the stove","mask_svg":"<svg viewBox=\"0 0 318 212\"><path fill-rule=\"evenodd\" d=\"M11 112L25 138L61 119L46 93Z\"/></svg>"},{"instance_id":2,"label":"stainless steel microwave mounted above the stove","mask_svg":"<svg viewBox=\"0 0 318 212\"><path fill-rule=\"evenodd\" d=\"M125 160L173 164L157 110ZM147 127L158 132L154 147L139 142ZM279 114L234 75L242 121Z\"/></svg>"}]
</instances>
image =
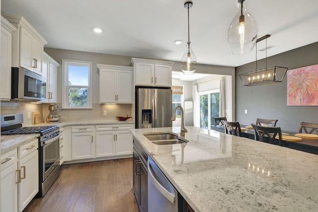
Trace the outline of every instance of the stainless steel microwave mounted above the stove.
<instances>
[{"instance_id":1,"label":"stainless steel microwave mounted above the stove","mask_svg":"<svg viewBox=\"0 0 318 212\"><path fill-rule=\"evenodd\" d=\"M11 99L44 100L46 78L23 68L11 68Z\"/></svg>"}]
</instances>

